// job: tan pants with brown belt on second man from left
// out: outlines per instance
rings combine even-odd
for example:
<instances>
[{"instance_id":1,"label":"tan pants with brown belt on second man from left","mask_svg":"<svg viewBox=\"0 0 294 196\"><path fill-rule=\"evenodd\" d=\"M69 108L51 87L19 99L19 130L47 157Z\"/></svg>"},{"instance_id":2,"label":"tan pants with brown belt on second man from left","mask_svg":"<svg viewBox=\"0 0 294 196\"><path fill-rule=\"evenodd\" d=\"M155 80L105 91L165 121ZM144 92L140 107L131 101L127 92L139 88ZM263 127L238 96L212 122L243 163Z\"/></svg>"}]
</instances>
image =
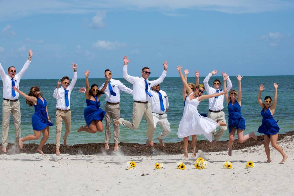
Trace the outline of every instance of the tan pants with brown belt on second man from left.
<instances>
[{"instance_id":1,"label":"tan pants with brown belt on second man from left","mask_svg":"<svg viewBox=\"0 0 294 196\"><path fill-rule=\"evenodd\" d=\"M55 113L55 123L56 123L56 134L55 134L55 145L56 148L60 147L60 137L61 137L61 129L62 129L62 120L65 124L65 133L62 137L64 140L67 139L71 130L71 111L59 111L56 110Z\"/></svg>"}]
</instances>

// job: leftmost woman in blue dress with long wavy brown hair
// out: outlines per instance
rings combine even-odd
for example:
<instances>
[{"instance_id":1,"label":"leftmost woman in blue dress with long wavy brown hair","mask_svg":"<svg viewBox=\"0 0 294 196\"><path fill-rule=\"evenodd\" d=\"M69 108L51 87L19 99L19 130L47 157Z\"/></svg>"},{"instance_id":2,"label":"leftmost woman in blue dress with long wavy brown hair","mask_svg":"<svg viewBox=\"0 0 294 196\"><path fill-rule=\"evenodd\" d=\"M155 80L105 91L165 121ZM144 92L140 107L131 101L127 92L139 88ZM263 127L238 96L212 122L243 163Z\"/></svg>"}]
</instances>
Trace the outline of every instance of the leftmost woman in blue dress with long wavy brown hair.
<instances>
[{"instance_id":1,"label":"leftmost woman in blue dress with long wavy brown hair","mask_svg":"<svg viewBox=\"0 0 294 196\"><path fill-rule=\"evenodd\" d=\"M16 86L13 86L13 89L21 96L25 97L25 103L28 104L29 107L35 107L35 113L32 116L32 126L35 134L28 135L24 138L19 138L19 147L22 149L24 141L40 139L42 132L43 138L40 141L40 145L37 148L37 151L44 155L42 148L49 138L49 126L53 126L53 123L51 123L48 115L47 101L37 86L33 86L30 89L28 95L20 91Z\"/></svg>"}]
</instances>

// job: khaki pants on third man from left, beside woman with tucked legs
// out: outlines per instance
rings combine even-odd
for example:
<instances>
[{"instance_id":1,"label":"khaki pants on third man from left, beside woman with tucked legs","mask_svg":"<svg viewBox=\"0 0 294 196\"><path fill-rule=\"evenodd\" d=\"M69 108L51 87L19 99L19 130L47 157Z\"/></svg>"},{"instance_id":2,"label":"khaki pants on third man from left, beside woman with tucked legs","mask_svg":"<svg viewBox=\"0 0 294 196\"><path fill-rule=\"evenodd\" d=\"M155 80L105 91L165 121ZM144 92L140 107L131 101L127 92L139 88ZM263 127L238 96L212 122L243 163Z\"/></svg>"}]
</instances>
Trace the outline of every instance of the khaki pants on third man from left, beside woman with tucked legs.
<instances>
[{"instance_id":1,"label":"khaki pants on third man from left, beside woman with tucked legs","mask_svg":"<svg viewBox=\"0 0 294 196\"><path fill-rule=\"evenodd\" d=\"M106 103L104 105L104 110L106 111L106 114L104 116L105 119L105 143L110 142L111 138L111 132L110 132L110 125L111 125L111 119L112 123L113 121L116 121L120 117L120 106L119 104L108 104ZM119 144L119 125L113 125L113 141L115 144Z\"/></svg>"}]
</instances>

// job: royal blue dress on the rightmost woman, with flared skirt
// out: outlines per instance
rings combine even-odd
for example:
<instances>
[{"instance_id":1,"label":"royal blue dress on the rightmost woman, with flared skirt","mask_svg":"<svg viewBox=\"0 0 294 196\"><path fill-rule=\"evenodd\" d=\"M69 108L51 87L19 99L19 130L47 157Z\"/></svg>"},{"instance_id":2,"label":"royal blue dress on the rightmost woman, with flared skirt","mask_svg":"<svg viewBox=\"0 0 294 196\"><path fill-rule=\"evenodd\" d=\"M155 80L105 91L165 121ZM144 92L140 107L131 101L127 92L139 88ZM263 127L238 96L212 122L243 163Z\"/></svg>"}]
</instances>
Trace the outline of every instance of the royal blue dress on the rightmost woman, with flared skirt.
<instances>
[{"instance_id":1,"label":"royal blue dress on the rightmost woman, with flared skirt","mask_svg":"<svg viewBox=\"0 0 294 196\"><path fill-rule=\"evenodd\" d=\"M264 107L265 108L265 107ZM277 122L279 120L275 120L273 118L273 115L270 113L269 108L264 111L264 108L260 112L262 115L262 124L258 128L258 133L266 134L268 138L270 138L270 135L277 134L280 130L280 127L277 125Z\"/></svg>"}]
</instances>

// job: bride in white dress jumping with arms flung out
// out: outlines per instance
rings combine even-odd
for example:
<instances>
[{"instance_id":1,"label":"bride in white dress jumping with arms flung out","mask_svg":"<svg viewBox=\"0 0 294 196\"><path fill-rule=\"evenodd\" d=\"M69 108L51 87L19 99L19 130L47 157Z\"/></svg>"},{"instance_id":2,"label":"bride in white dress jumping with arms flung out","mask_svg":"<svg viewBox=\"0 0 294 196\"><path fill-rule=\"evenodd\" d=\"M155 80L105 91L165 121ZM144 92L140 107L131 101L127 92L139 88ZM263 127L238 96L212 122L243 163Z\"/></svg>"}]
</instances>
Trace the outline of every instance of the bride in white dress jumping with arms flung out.
<instances>
[{"instance_id":1,"label":"bride in white dress jumping with arms flung out","mask_svg":"<svg viewBox=\"0 0 294 196\"><path fill-rule=\"evenodd\" d=\"M212 119L200 116L197 111L197 107L199 103L201 102L201 100L223 95L224 93L227 93L228 90L225 92L214 93L210 95L202 95L205 89L204 89L204 86L200 84L196 86L193 92L193 90L189 87L187 81L185 80L185 77L183 76L183 73L181 71L182 68L183 67L180 65L176 67L176 69L179 71L181 80L188 91L187 93L188 96L186 98L184 114L179 124L178 137L183 138L184 149L185 149L184 156L185 156L185 160L187 160L188 159L188 141L189 141L190 135L192 135L192 144L193 144L192 156L195 157L197 135L204 135L205 138L207 138L209 141L212 141L211 132L213 132L213 130L215 130L216 127L218 126L227 126L221 121L217 123L213 121Z\"/></svg>"}]
</instances>

